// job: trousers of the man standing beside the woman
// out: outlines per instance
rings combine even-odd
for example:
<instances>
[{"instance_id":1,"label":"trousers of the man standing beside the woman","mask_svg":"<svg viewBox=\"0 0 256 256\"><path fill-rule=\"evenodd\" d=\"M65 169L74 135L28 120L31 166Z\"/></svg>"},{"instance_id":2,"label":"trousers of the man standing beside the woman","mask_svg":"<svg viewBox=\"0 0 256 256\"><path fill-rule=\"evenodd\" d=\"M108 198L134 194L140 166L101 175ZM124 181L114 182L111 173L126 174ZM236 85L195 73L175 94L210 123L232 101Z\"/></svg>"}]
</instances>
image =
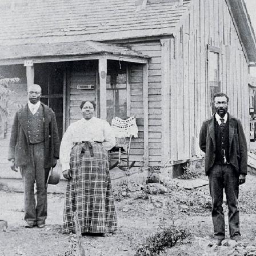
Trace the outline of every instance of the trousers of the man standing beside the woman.
<instances>
[{"instance_id":1,"label":"trousers of the man standing beside the woman","mask_svg":"<svg viewBox=\"0 0 256 256\"><path fill-rule=\"evenodd\" d=\"M44 224L47 217L47 190L45 186L45 143L29 145L31 160L22 167L22 179L25 196L25 221ZM37 205L35 204L34 182L37 187Z\"/></svg>"}]
</instances>

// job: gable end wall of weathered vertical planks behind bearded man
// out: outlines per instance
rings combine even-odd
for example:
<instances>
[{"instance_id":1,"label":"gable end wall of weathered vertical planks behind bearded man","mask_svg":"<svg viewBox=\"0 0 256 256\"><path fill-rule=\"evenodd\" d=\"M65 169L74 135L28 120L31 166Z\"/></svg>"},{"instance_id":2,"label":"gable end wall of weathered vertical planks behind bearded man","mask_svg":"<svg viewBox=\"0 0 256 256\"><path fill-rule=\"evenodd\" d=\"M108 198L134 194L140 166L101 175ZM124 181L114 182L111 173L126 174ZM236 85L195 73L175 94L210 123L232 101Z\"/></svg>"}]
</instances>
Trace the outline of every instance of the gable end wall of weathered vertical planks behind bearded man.
<instances>
[{"instance_id":1,"label":"gable end wall of weathered vertical planks behind bearded man","mask_svg":"<svg viewBox=\"0 0 256 256\"><path fill-rule=\"evenodd\" d=\"M225 0L194 0L171 39L171 160L201 154L199 131L210 116L207 45L219 50L221 91L230 97L229 113L241 119L249 142L247 62L229 7Z\"/></svg>"}]
</instances>

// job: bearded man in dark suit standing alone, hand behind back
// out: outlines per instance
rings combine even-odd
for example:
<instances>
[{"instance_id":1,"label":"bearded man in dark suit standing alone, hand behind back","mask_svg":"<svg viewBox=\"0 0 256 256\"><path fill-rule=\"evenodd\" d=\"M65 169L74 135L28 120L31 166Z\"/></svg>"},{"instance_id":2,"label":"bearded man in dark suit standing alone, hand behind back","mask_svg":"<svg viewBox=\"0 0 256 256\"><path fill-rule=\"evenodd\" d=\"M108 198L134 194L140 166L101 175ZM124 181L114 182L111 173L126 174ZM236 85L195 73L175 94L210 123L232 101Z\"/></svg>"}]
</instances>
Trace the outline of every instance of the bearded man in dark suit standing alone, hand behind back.
<instances>
[{"instance_id":1,"label":"bearded man in dark suit standing alone, hand behind back","mask_svg":"<svg viewBox=\"0 0 256 256\"><path fill-rule=\"evenodd\" d=\"M223 189L229 207L229 233L235 241L241 237L239 230L238 190L247 174L246 138L239 119L227 113L229 97L214 94L216 113L203 122L199 145L205 152L205 172L209 176L212 198L214 243L221 245L225 239L223 214Z\"/></svg>"}]
</instances>

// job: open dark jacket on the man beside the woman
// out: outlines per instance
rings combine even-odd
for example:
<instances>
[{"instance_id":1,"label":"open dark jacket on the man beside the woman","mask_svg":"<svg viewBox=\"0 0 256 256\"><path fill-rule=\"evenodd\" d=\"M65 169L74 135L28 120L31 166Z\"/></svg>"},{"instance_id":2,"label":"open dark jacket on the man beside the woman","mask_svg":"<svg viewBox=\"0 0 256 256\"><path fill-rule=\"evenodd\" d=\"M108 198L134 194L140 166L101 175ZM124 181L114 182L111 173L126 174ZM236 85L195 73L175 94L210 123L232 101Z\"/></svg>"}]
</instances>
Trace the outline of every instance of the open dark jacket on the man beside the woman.
<instances>
[{"instance_id":1,"label":"open dark jacket on the man beside the woman","mask_svg":"<svg viewBox=\"0 0 256 256\"><path fill-rule=\"evenodd\" d=\"M45 168L54 167L59 159L59 136L56 117L53 110L43 103L44 137L45 137ZM8 160L14 159L15 165L25 166L30 159L29 139L27 129L27 114L29 106L19 109L14 117L11 129Z\"/></svg>"}]
</instances>

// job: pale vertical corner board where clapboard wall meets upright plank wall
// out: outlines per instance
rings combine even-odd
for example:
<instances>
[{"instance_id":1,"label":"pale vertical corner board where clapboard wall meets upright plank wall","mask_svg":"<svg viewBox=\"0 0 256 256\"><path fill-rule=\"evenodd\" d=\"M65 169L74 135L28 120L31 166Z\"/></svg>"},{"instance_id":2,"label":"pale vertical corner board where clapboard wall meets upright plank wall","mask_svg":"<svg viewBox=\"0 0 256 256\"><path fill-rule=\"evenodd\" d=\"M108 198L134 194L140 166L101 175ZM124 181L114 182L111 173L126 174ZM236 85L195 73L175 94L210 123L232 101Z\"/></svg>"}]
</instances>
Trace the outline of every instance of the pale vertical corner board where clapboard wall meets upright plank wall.
<instances>
[{"instance_id":1,"label":"pale vertical corner board where clapboard wall meets upright plank wall","mask_svg":"<svg viewBox=\"0 0 256 256\"><path fill-rule=\"evenodd\" d=\"M170 39L161 40L162 70L162 158L170 159Z\"/></svg>"}]
</instances>

